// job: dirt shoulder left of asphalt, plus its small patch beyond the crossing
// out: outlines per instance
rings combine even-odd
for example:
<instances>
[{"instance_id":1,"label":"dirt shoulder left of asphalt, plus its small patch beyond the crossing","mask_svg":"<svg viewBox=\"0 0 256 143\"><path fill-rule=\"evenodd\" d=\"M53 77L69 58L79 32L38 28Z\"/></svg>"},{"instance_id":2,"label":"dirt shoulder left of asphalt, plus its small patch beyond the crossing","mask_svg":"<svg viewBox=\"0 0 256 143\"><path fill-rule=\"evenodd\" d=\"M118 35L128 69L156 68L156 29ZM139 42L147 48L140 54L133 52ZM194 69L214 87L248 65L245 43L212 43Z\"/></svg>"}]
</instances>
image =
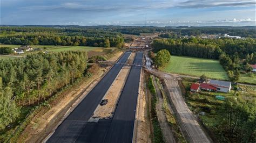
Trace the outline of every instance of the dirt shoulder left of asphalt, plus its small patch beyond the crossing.
<instances>
[{"instance_id":1,"label":"dirt shoulder left of asphalt, plus its small patch beyond the crossing","mask_svg":"<svg viewBox=\"0 0 256 143\"><path fill-rule=\"evenodd\" d=\"M112 60L118 60L123 54L119 52ZM101 80L110 67L100 68L98 74L90 77L76 87L58 96L50 108L44 108L33 117L25 130L19 135L20 142L42 142L62 121L69 112L82 101L90 90Z\"/></svg>"}]
</instances>

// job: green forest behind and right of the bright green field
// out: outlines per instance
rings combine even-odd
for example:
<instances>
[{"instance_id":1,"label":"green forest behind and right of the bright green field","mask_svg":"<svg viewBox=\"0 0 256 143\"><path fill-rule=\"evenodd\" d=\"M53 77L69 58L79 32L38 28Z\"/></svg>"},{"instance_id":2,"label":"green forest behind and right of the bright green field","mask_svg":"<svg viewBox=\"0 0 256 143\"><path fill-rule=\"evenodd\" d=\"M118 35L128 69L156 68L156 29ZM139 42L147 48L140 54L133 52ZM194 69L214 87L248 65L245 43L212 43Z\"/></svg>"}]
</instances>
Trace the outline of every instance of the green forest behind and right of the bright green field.
<instances>
[{"instance_id":1,"label":"green forest behind and right of the bright green field","mask_svg":"<svg viewBox=\"0 0 256 143\"><path fill-rule=\"evenodd\" d=\"M171 55L219 59L231 81L239 80L239 70L251 71L256 63L256 40L241 39L156 39L151 44L154 52L167 49ZM241 60L244 59L244 60ZM242 61L242 63L241 63Z\"/></svg>"}]
</instances>

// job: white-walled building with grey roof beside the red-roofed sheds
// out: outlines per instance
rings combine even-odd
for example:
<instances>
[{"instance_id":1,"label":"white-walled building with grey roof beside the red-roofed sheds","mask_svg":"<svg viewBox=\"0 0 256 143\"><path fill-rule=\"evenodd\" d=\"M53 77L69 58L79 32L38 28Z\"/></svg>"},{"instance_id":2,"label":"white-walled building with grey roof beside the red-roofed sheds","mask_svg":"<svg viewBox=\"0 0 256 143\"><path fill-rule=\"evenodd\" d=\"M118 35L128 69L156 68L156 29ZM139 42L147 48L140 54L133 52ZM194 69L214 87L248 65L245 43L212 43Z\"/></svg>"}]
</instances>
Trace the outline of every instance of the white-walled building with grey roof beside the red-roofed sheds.
<instances>
[{"instance_id":1,"label":"white-walled building with grey roof beside the red-roofed sheds","mask_svg":"<svg viewBox=\"0 0 256 143\"><path fill-rule=\"evenodd\" d=\"M210 84L217 88L220 92L229 92L231 90L231 82L210 80Z\"/></svg>"}]
</instances>

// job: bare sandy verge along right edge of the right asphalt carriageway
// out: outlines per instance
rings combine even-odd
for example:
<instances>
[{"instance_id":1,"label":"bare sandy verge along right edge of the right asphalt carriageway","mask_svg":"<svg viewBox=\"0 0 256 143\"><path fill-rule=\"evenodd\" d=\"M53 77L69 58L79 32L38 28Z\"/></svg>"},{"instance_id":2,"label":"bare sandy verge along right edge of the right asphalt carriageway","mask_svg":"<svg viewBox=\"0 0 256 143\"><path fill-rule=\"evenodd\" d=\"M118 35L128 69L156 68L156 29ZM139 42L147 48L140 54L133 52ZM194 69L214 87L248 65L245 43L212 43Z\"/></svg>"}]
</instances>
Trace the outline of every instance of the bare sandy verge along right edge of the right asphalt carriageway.
<instances>
[{"instance_id":1,"label":"bare sandy verge along right edge of the right asphalt carriageway","mask_svg":"<svg viewBox=\"0 0 256 143\"><path fill-rule=\"evenodd\" d=\"M138 96L138 102L137 102L137 112L136 112L136 122L134 126L134 138L133 142L151 142L151 128L150 128L150 118L148 115L148 107L150 104L149 97L147 97L146 93L146 81L145 74L142 72L141 76L141 82L140 82L140 92Z\"/></svg>"}]
</instances>

